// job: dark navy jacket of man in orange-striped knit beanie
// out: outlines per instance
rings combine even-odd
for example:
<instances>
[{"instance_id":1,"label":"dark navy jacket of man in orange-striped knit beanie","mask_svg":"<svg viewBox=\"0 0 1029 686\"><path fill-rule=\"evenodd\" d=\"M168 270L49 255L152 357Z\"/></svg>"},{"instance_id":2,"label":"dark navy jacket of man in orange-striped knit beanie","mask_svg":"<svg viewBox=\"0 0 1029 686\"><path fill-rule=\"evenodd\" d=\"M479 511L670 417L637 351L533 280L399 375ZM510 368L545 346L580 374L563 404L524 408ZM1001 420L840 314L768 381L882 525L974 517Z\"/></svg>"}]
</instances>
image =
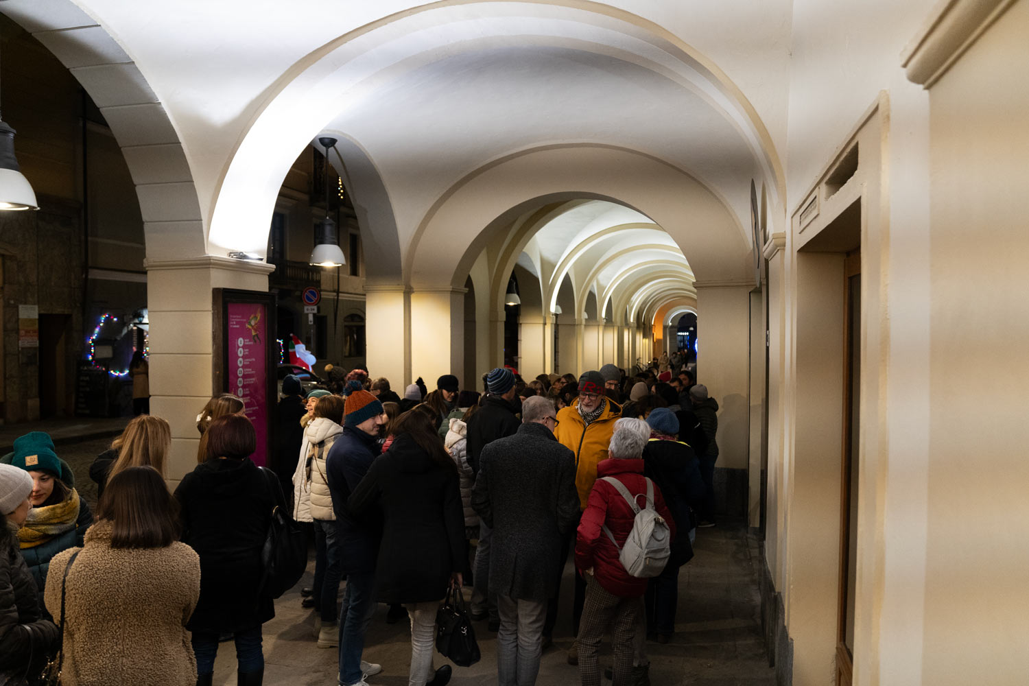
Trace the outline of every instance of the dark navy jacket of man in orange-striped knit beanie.
<instances>
[{"instance_id":1,"label":"dark navy jacket of man in orange-striped knit beanie","mask_svg":"<svg viewBox=\"0 0 1029 686\"><path fill-rule=\"evenodd\" d=\"M352 515L347 510L347 502L381 452L378 436L368 435L357 427L345 426L325 458L325 475L335 512L341 567L347 574L374 572L376 569L382 520L378 516L358 518Z\"/></svg>"}]
</instances>

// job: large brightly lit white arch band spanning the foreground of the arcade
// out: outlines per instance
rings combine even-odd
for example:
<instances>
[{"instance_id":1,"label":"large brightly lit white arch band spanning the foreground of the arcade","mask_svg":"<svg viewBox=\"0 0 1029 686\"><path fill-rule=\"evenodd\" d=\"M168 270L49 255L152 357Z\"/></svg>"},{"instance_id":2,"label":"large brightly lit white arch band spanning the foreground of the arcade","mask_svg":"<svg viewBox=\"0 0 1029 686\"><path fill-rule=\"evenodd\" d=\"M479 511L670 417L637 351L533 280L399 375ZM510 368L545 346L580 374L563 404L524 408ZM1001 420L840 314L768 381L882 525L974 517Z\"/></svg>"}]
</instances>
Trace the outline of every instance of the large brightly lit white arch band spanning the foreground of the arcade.
<instances>
[{"instance_id":1,"label":"large brightly lit white arch band spanning the foreground of the arcade","mask_svg":"<svg viewBox=\"0 0 1029 686\"><path fill-rule=\"evenodd\" d=\"M259 231L252 239L245 239L235 226L268 225L272 208L267 198L274 196L275 189L281 185L292 161L290 150L295 151L300 143L317 136L348 101L360 93L372 91L385 79L430 63L437 56L476 49L498 39L513 39L502 28L512 23L503 20L520 15L523 4L538 12L540 3L442 0L381 17L298 60L270 86L263 105L254 113L211 189L209 250L220 252L226 245L242 240L263 250L267 240ZM448 33L449 21L462 19L471 6L477 21L488 30L481 31L482 35L475 40ZM534 41L615 53L619 59L651 69L699 95L738 129L762 174L774 181L780 197L784 197L784 175L771 136L740 88L711 60L660 25L623 9L574 0L549 2L547 8L551 15L561 21L541 22L546 30L541 30L539 36L532 36ZM529 15L536 12L529 11ZM632 40L594 44L561 33L570 31L569 27L595 25L603 25L612 35L622 33ZM416 34L419 40L404 41ZM518 37L523 41L528 39L522 35ZM386 44L389 44L384 50L389 52L388 59L381 57L382 62L376 63L368 57ZM630 46L646 55L632 52ZM405 266L411 263L419 239L415 237L410 249L402 245ZM404 283L415 285L419 277L404 268L402 278ZM461 283L463 278L457 281Z\"/></svg>"}]
</instances>

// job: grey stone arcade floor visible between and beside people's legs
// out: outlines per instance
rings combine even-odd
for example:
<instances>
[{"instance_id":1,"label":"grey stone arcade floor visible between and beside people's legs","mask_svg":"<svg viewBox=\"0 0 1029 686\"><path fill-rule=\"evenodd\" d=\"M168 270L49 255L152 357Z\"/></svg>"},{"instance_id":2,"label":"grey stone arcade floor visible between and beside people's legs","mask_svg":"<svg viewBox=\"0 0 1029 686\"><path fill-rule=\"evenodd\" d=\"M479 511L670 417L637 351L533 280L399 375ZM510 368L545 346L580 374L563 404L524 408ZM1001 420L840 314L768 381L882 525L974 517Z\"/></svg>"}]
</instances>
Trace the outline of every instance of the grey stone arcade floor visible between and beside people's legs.
<instances>
[{"instance_id":1,"label":"grey stone arcade floor visible between and beside people's legs","mask_svg":"<svg viewBox=\"0 0 1029 686\"><path fill-rule=\"evenodd\" d=\"M757 546L749 541L741 525L698 531L697 556L679 577L680 597L676 634L668 645L647 643L650 682L655 686L703 684L704 686L773 686L760 638L756 570ZM276 604L276 617L264 624L264 684L267 686L330 686L336 683L336 651L319 649L312 638L313 617L300 609L299 588L311 584L309 574L293 591ZM563 588L570 589L571 566ZM570 599L565 599L566 605ZM572 686L578 683L576 667L565 660L571 645L569 608L562 608L556 647L543 653L537 684ZM368 630L364 658L383 665L382 674L369 679L372 686L407 683L411 657L410 631L405 621L389 625L386 606L380 606ZM496 641L486 622L476 622L483 659L477 664L454 669L452 684L460 686L496 683ZM563 629L563 630L562 630ZM436 666L441 664L436 654ZM601 657L601 663L610 663ZM215 684L236 683L233 644L218 651ZM610 684L610 682L605 682Z\"/></svg>"}]
</instances>

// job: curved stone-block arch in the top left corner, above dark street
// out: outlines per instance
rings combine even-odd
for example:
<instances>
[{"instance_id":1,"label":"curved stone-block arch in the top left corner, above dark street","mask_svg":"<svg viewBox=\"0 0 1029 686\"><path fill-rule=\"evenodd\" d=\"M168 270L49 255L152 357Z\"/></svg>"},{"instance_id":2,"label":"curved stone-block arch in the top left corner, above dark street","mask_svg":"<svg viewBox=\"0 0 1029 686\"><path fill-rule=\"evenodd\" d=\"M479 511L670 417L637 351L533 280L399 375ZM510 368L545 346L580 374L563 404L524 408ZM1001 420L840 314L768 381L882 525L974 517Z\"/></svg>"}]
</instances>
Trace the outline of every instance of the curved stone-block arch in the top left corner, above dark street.
<instances>
[{"instance_id":1,"label":"curved stone-block arch in the top left corner, above dark street","mask_svg":"<svg viewBox=\"0 0 1029 686\"><path fill-rule=\"evenodd\" d=\"M188 151L128 49L71 0L5 2L3 12L67 67L107 120L136 184L148 262L206 254Z\"/></svg>"}]
</instances>

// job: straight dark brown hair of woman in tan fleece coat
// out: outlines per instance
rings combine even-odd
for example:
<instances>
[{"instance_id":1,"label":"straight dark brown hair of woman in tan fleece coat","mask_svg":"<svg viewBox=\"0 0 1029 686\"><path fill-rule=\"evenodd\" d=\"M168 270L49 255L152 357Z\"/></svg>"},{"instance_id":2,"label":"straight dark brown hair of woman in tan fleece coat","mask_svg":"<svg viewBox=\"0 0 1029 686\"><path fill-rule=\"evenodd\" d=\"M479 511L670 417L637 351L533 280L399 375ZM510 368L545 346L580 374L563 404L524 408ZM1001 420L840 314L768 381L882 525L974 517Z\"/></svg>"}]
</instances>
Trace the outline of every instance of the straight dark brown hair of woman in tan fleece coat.
<instances>
[{"instance_id":1,"label":"straight dark brown hair of woman in tan fleece coat","mask_svg":"<svg viewBox=\"0 0 1029 686\"><path fill-rule=\"evenodd\" d=\"M97 518L111 522L112 548L167 548L179 538L178 515L178 502L149 465L112 476L97 509Z\"/></svg>"}]
</instances>

